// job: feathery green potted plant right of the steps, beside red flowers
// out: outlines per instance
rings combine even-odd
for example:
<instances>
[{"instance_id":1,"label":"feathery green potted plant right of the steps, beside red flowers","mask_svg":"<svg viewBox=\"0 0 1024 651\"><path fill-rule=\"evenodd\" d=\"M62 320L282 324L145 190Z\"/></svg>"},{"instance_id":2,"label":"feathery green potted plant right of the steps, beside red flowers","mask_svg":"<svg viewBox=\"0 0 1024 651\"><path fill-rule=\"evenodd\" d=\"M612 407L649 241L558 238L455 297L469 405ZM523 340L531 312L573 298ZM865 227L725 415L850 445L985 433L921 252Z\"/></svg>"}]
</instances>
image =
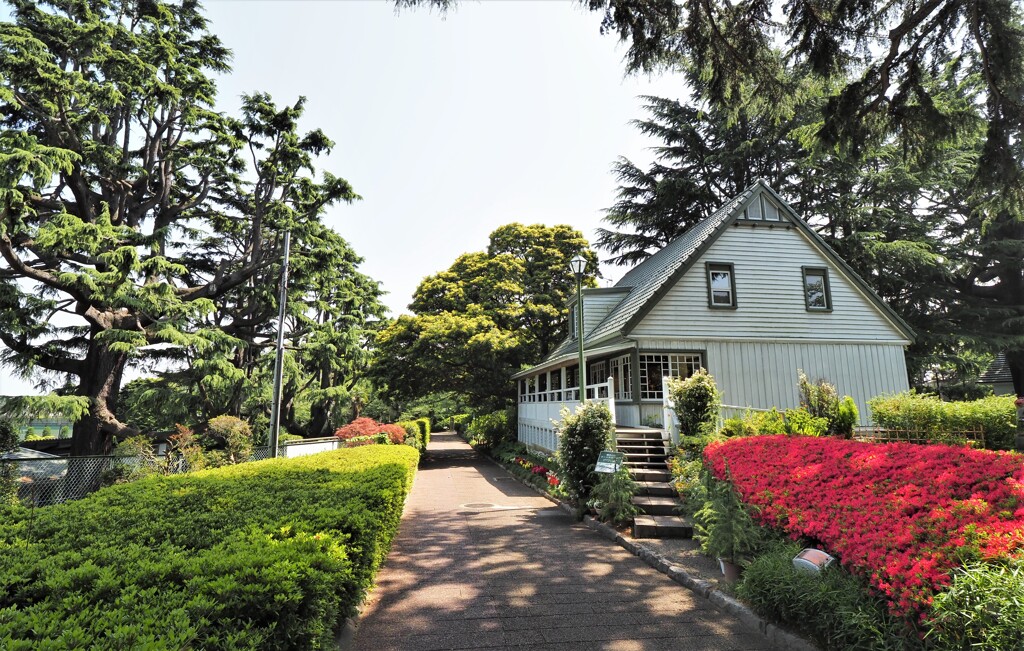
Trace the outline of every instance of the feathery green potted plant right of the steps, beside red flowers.
<instances>
[{"instance_id":1,"label":"feathery green potted plant right of the steps, beside red flowers","mask_svg":"<svg viewBox=\"0 0 1024 651\"><path fill-rule=\"evenodd\" d=\"M725 580L734 582L741 564L764 536L731 483L715 479L710 472L707 481L708 498L694 514L695 537L705 554L718 559Z\"/></svg>"}]
</instances>

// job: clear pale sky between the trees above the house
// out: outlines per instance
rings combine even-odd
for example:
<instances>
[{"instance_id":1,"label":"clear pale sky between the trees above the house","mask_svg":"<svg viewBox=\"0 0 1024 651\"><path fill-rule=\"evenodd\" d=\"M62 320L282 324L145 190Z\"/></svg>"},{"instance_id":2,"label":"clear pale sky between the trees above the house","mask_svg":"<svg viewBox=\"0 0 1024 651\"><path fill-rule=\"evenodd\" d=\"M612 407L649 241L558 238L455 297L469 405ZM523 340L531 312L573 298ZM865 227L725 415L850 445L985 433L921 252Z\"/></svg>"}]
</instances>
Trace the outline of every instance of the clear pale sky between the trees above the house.
<instances>
[{"instance_id":1,"label":"clear pale sky between the trees above the house","mask_svg":"<svg viewBox=\"0 0 1024 651\"><path fill-rule=\"evenodd\" d=\"M279 105L304 95L303 126L335 140L321 168L364 199L327 220L393 315L502 224L567 223L593 241L614 202L611 164L646 164L656 144L629 124L645 117L638 96L685 93L678 77L624 77L624 46L569 0L463 1L443 17L388 0L205 6L233 51L219 108L257 90ZM0 370L0 394L27 391Z\"/></svg>"}]
</instances>

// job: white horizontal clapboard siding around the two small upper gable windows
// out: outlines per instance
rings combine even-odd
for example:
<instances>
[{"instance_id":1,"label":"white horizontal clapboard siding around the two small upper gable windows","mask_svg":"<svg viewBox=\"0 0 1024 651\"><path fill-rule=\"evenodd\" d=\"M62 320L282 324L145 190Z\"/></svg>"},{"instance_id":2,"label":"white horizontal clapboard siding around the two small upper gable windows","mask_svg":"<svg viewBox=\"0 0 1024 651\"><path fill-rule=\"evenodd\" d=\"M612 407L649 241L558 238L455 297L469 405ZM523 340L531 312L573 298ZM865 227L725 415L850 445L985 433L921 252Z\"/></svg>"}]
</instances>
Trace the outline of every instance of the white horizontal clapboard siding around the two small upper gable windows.
<instances>
[{"instance_id":1,"label":"white horizontal clapboard siding around the two small upper gable windows","mask_svg":"<svg viewBox=\"0 0 1024 651\"><path fill-rule=\"evenodd\" d=\"M811 245L798 228L738 222L696 260L630 333L689 337L878 341L908 344L906 337ZM736 307L711 309L705 264L730 263L735 271ZM802 267L826 267L833 309L808 311Z\"/></svg>"}]
</instances>

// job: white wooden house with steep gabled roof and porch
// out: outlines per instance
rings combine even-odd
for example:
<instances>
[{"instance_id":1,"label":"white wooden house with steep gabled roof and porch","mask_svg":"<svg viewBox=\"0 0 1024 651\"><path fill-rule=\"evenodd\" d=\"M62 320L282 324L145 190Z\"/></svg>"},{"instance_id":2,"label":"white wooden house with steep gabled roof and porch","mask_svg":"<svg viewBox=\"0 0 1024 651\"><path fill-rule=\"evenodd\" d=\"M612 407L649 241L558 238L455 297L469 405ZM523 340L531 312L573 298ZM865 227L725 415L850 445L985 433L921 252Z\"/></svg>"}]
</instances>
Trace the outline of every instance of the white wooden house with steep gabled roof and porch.
<instances>
[{"instance_id":1,"label":"white wooden house with steep gabled roof and porch","mask_svg":"<svg viewBox=\"0 0 1024 651\"><path fill-rule=\"evenodd\" d=\"M913 332L764 181L583 301L588 397L620 427L660 427L663 378L701 366L733 411L797 406L798 370L853 396L861 424L869 398L908 388ZM523 442L557 447L553 421L579 399L570 331L515 376Z\"/></svg>"}]
</instances>

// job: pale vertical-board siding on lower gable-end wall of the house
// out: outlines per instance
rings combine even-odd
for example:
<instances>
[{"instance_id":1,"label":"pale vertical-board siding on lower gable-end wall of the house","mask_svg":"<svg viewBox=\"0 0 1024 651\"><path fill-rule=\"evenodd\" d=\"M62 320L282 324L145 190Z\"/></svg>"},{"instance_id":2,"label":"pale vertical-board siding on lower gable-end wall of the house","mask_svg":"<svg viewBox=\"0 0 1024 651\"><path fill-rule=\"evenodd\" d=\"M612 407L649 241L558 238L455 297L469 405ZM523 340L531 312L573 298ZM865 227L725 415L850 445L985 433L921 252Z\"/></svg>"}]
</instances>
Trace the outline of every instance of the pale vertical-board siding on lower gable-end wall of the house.
<instances>
[{"instance_id":1,"label":"pale vertical-board siding on lower gable-end wall of the house","mask_svg":"<svg viewBox=\"0 0 1024 651\"><path fill-rule=\"evenodd\" d=\"M644 350L702 350L708 372L724 404L785 409L800 404L797 372L836 385L857 402L860 424L870 424L867 400L906 391L906 360L900 344L787 341L643 339Z\"/></svg>"}]
</instances>

